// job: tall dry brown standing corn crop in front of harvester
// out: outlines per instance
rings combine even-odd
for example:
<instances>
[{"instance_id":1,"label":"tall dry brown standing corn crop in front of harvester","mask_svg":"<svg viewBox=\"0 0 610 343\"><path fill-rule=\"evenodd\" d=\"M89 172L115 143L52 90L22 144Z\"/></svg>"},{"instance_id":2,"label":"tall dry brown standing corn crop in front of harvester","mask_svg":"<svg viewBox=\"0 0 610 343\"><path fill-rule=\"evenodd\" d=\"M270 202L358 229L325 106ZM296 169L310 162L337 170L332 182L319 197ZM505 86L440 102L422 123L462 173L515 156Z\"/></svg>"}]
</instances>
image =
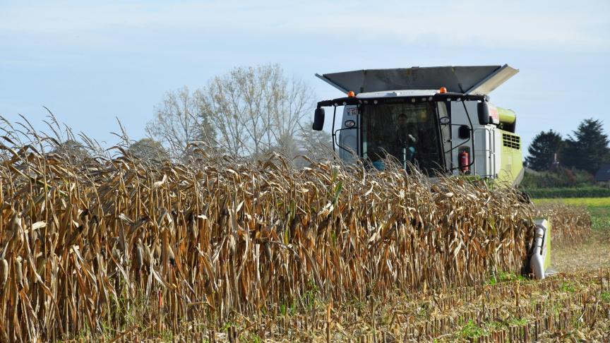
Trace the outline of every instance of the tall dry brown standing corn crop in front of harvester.
<instances>
[{"instance_id":1,"label":"tall dry brown standing corn crop in front of harvester","mask_svg":"<svg viewBox=\"0 0 610 343\"><path fill-rule=\"evenodd\" d=\"M531 241L531 205L457 179L333 162L293 169L277 155L73 163L34 145L1 148L3 342L184 330L215 339L237 321L240 335L277 335L280 313L308 311L311 299L518 273Z\"/></svg>"}]
</instances>

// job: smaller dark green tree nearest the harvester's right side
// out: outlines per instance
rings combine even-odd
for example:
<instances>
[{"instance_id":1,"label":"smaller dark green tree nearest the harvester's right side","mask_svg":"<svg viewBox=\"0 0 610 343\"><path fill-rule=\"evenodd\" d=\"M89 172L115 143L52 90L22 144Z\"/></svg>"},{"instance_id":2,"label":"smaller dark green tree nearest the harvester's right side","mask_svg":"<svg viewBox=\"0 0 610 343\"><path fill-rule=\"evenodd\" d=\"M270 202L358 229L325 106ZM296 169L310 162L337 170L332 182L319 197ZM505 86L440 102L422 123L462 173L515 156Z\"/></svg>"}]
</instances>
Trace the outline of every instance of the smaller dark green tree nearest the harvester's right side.
<instances>
[{"instance_id":1,"label":"smaller dark green tree nearest the harvester's right side","mask_svg":"<svg viewBox=\"0 0 610 343\"><path fill-rule=\"evenodd\" d=\"M537 171L549 170L555 160L555 154L561 150L563 139L553 130L542 131L534 137L527 152L530 156L525 157L527 167Z\"/></svg>"}]
</instances>

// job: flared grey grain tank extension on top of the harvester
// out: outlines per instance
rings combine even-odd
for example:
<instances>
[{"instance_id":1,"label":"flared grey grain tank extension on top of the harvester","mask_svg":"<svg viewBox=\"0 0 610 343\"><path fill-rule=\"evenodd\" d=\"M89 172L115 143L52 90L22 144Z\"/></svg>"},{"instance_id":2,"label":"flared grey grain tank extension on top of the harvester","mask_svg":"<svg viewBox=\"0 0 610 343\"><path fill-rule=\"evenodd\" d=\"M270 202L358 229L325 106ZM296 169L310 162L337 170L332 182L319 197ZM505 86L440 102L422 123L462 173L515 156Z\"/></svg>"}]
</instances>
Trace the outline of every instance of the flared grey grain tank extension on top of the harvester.
<instances>
[{"instance_id":1,"label":"flared grey grain tank extension on top of the harvester","mask_svg":"<svg viewBox=\"0 0 610 343\"><path fill-rule=\"evenodd\" d=\"M519 71L504 66L440 66L394 69L363 69L318 75L333 87L348 92L387 90L438 90L486 95Z\"/></svg>"}]
</instances>

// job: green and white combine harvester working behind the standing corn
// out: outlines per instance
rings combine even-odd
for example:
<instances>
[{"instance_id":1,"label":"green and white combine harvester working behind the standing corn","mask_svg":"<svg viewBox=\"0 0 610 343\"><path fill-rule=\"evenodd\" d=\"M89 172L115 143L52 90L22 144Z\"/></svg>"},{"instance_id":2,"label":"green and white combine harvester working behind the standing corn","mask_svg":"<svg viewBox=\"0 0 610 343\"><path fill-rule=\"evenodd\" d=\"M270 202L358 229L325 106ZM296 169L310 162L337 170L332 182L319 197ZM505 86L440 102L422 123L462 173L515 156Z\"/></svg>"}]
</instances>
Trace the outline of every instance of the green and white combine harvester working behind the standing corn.
<instances>
[{"instance_id":1,"label":"green and white combine harvester working behind the standing corn","mask_svg":"<svg viewBox=\"0 0 610 343\"><path fill-rule=\"evenodd\" d=\"M323 129L324 107L333 107L333 147L345 162L383 170L393 157L429 176L470 175L515 187L523 177L517 116L488 95L516 73L504 65L316 74L347 96L318 102L313 130ZM335 130L337 107L343 114ZM530 266L537 279L550 265L550 229L545 219L536 221Z\"/></svg>"}]
</instances>

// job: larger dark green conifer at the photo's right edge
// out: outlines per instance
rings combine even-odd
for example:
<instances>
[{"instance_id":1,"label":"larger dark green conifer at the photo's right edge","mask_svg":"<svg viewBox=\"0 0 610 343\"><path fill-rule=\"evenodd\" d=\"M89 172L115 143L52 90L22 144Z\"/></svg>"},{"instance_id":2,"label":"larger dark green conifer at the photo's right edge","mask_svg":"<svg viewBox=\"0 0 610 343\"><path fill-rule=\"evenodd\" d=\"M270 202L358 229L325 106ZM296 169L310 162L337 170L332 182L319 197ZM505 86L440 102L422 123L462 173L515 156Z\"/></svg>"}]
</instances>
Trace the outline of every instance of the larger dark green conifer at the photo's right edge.
<instances>
[{"instance_id":1,"label":"larger dark green conifer at the photo's right edge","mask_svg":"<svg viewBox=\"0 0 610 343\"><path fill-rule=\"evenodd\" d=\"M604 133L603 123L597 119L585 119L566 140L563 164L567 167L597 172L610 160L610 140Z\"/></svg>"}]
</instances>

